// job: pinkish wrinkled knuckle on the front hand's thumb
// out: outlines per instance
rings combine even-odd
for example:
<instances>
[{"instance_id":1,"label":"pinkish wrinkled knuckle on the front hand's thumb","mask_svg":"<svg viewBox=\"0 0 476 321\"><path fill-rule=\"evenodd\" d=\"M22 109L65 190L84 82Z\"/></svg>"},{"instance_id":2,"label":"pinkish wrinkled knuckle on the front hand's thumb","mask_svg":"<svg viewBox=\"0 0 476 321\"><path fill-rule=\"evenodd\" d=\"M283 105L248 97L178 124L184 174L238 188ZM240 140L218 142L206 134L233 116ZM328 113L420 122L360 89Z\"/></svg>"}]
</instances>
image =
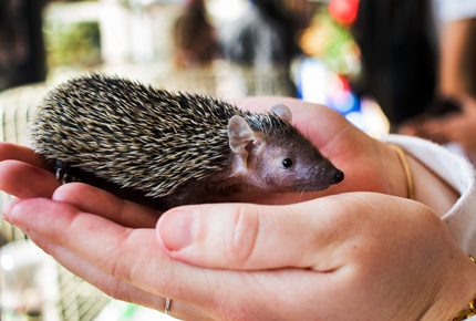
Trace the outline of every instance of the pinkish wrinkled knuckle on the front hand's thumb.
<instances>
[{"instance_id":1,"label":"pinkish wrinkled knuckle on the front hand's thumb","mask_svg":"<svg viewBox=\"0 0 476 321\"><path fill-rule=\"evenodd\" d=\"M259 215L240 206L232 220L231 232L227 235L225 252L238 267L246 267L256 251L259 235Z\"/></svg>"}]
</instances>

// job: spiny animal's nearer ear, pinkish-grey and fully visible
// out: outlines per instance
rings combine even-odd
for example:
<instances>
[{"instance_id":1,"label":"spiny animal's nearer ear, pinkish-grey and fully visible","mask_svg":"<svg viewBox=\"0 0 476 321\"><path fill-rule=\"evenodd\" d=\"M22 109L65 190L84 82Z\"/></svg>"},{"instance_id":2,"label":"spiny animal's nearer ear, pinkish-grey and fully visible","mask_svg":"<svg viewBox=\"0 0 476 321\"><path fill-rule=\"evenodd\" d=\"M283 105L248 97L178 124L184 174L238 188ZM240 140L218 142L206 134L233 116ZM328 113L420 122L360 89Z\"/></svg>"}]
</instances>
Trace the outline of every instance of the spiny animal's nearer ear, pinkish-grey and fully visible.
<instances>
[{"instance_id":1,"label":"spiny animal's nearer ear, pinkish-grey and fully visible","mask_svg":"<svg viewBox=\"0 0 476 321\"><path fill-rule=\"evenodd\" d=\"M245 161L248 157L246 146L256 139L255 132L248 122L238 115L228 121L227 132L231 151Z\"/></svg>"}]
</instances>

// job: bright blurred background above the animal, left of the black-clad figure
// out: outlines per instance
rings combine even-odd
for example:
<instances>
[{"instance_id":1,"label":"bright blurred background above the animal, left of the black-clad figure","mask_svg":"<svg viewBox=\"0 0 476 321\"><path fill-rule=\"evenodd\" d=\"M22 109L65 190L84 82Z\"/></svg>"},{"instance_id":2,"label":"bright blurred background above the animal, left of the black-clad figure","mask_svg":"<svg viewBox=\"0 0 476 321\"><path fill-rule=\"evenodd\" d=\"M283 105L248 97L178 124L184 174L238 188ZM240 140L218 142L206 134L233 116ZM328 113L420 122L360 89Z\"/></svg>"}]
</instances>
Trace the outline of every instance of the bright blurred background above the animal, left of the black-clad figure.
<instances>
[{"instance_id":1,"label":"bright blurred background above the animal, left of the black-clad figure","mask_svg":"<svg viewBox=\"0 0 476 321\"><path fill-rule=\"evenodd\" d=\"M0 90L101 70L223 99L297 96L387 131L373 104L362 117L352 87L358 0L2 0L0 10Z\"/></svg>"}]
</instances>

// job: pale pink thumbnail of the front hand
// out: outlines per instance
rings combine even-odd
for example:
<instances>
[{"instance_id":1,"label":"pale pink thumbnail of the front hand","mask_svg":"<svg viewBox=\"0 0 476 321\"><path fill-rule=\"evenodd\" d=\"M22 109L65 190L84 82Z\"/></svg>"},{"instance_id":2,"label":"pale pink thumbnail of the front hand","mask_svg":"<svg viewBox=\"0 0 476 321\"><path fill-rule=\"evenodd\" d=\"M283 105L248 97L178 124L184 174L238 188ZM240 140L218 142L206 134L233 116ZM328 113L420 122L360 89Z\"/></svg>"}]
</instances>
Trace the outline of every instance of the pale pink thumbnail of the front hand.
<instances>
[{"instance_id":1,"label":"pale pink thumbnail of the front hand","mask_svg":"<svg viewBox=\"0 0 476 321\"><path fill-rule=\"evenodd\" d=\"M158 220L157 232L162 244L170 251L178 251L194 240L196 213L187 209L172 209Z\"/></svg>"}]
</instances>

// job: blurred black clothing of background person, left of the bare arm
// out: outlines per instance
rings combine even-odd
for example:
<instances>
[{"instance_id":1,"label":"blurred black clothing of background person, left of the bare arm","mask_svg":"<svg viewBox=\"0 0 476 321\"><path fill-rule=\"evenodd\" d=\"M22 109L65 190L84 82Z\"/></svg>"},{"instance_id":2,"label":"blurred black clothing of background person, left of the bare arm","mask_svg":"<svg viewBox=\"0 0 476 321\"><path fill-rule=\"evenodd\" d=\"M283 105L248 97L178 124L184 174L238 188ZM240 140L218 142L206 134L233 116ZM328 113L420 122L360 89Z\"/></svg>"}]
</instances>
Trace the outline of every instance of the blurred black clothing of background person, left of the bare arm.
<instances>
[{"instance_id":1,"label":"blurred black clothing of background person, left of the bare arm","mask_svg":"<svg viewBox=\"0 0 476 321\"><path fill-rule=\"evenodd\" d=\"M361 51L363 92L377 101L393 127L430 108L435 95L430 1L359 1L352 30Z\"/></svg>"}]
</instances>

